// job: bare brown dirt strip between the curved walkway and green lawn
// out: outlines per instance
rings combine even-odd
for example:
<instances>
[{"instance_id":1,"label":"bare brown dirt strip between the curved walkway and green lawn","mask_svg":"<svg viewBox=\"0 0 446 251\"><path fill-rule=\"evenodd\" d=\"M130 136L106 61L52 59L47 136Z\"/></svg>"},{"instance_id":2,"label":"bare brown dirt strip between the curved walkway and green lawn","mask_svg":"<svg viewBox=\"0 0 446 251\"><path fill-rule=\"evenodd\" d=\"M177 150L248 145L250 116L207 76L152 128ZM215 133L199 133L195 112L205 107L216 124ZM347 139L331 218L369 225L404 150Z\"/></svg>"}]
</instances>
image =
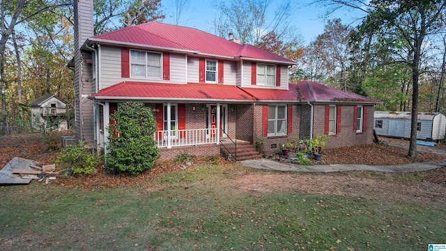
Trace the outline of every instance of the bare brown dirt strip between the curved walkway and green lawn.
<instances>
[{"instance_id":1,"label":"bare brown dirt strip between the curved walkway and green lawn","mask_svg":"<svg viewBox=\"0 0 446 251\"><path fill-rule=\"evenodd\" d=\"M444 168L444 167L443 167ZM338 172L323 174L246 174L235 179L240 192L294 191L318 195L348 195L369 199L392 198L446 202L446 187L423 181L405 184L393 174L385 178L362 176L364 172Z\"/></svg>"}]
</instances>

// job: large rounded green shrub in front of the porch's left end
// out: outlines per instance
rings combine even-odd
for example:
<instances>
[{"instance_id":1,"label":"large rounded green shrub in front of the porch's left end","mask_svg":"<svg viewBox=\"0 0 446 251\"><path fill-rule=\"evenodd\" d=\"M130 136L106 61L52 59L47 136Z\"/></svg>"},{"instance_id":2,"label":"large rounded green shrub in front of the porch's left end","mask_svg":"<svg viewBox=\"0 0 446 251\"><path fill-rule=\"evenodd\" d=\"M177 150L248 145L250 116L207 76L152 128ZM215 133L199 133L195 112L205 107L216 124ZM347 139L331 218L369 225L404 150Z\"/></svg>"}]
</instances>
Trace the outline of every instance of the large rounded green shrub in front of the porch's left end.
<instances>
[{"instance_id":1,"label":"large rounded green shrub in front of the porch's left end","mask_svg":"<svg viewBox=\"0 0 446 251\"><path fill-rule=\"evenodd\" d=\"M119 105L112 119L116 124L107 128L109 153L106 168L133 175L151 169L160 158L153 138L156 121L152 109L141 102L125 102Z\"/></svg>"}]
</instances>

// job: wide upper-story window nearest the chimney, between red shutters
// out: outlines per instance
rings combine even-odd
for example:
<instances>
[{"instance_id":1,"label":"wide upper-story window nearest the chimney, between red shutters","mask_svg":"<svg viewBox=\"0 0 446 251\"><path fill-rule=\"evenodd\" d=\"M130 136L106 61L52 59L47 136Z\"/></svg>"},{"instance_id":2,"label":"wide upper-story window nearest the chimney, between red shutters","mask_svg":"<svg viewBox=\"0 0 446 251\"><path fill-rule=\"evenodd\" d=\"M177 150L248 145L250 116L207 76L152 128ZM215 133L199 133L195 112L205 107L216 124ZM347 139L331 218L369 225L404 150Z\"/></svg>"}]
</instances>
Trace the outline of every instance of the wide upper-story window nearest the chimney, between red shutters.
<instances>
[{"instance_id":1,"label":"wide upper-story window nearest the chimney, between red shutters","mask_svg":"<svg viewBox=\"0 0 446 251\"><path fill-rule=\"evenodd\" d=\"M131 77L161 79L161 53L130 51Z\"/></svg>"}]
</instances>

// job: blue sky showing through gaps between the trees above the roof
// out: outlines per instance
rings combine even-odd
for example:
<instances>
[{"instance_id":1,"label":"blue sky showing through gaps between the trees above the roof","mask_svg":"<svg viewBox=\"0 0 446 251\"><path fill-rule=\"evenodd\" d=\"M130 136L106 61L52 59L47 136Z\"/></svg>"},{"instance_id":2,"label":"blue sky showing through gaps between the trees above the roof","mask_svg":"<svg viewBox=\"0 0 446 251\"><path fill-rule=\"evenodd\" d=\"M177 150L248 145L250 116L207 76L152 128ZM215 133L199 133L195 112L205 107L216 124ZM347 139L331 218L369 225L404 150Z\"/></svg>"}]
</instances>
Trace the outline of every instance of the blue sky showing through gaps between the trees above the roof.
<instances>
[{"instance_id":1,"label":"blue sky showing through gaps between the trees above the roof","mask_svg":"<svg viewBox=\"0 0 446 251\"><path fill-rule=\"evenodd\" d=\"M162 0L162 6L166 12L166 19L164 22L174 23L174 18L171 15L172 2L174 0ZM304 38L305 45L315 40L316 37L323 33L324 23L326 20L332 20L334 18L341 18L344 24L350 24L357 17L360 17L362 13L359 11L351 10L337 10L332 15L322 18L325 13L323 6L315 4L309 4L312 0L294 0L293 13L291 15L291 27L300 33ZM180 25L194 27L202 31L212 33L213 20L217 15L217 10L213 8L213 1L209 0L190 0L190 6L187 11L180 16ZM272 1L271 12L268 13L267 19L272 18L275 7L279 4L279 1Z\"/></svg>"}]
</instances>

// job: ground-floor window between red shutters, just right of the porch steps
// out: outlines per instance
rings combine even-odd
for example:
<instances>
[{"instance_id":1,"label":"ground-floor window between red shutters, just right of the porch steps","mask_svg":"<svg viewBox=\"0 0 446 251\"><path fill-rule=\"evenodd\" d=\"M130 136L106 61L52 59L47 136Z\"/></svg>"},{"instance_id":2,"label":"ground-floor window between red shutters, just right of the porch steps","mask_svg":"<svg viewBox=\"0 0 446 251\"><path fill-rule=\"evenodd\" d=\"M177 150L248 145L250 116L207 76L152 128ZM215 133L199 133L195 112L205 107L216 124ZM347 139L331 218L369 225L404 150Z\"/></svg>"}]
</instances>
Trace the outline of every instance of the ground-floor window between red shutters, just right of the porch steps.
<instances>
[{"instance_id":1,"label":"ground-floor window between red shutters, just right of the porch steps","mask_svg":"<svg viewBox=\"0 0 446 251\"><path fill-rule=\"evenodd\" d=\"M268 105L268 135L286 135L285 105Z\"/></svg>"}]
</instances>

